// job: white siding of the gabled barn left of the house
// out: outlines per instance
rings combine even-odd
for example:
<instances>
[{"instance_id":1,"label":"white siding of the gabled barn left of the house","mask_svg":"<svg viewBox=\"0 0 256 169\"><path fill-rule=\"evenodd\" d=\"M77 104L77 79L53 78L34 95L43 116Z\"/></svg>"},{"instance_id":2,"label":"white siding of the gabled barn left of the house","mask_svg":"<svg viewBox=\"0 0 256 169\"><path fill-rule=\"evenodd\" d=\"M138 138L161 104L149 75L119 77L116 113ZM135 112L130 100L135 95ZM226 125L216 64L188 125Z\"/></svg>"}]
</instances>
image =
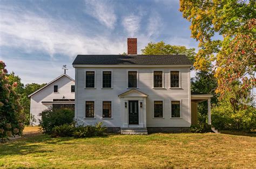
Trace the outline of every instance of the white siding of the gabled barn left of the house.
<instances>
[{"instance_id":1,"label":"white siding of the gabled barn left of the house","mask_svg":"<svg viewBox=\"0 0 256 169\"><path fill-rule=\"evenodd\" d=\"M53 86L55 85L58 85L58 93L53 93ZM33 122L32 125L38 125L39 119L41 119L39 114L43 110L52 107L52 104L42 104L42 101L53 101L53 99L62 98L63 96L65 98L75 99L75 93L71 93L71 85L75 85L75 82L66 76L62 76L31 96L30 114L36 119L36 122Z\"/></svg>"}]
</instances>

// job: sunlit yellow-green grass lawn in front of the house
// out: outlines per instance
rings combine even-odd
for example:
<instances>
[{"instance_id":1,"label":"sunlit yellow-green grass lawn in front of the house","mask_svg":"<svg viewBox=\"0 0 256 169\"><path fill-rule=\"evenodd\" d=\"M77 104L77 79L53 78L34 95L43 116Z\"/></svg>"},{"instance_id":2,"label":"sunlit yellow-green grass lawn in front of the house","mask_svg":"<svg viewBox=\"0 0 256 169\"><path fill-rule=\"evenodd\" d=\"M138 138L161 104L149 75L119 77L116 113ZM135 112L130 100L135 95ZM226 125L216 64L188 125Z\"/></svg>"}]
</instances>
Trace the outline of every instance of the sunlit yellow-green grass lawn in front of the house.
<instances>
[{"instance_id":1,"label":"sunlit yellow-green grass lawn in front of the house","mask_svg":"<svg viewBox=\"0 0 256 169\"><path fill-rule=\"evenodd\" d=\"M0 167L256 167L256 137L154 133L51 138L42 133L0 144Z\"/></svg>"}]
</instances>

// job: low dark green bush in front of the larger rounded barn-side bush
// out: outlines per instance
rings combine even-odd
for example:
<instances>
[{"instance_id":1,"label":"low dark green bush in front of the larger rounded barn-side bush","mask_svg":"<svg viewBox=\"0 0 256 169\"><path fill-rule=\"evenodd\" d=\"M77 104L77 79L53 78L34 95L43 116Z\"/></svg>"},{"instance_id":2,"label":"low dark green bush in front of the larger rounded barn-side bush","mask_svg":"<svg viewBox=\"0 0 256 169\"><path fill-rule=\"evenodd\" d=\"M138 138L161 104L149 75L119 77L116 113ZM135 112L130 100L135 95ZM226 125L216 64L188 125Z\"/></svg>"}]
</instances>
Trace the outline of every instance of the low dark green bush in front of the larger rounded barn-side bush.
<instances>
[{"instance_id":1,"label":"low dark green bush in front of the larger rounded barn-side bush","mask_svg":"<svg viewBox=\"0 0 256 169\"><path fill-rule=\"evenodd\" d=\"M74 125L63 124L55 126L51 131L52 137L71 137L75 131Z\"/></svg>"}]
</instances>

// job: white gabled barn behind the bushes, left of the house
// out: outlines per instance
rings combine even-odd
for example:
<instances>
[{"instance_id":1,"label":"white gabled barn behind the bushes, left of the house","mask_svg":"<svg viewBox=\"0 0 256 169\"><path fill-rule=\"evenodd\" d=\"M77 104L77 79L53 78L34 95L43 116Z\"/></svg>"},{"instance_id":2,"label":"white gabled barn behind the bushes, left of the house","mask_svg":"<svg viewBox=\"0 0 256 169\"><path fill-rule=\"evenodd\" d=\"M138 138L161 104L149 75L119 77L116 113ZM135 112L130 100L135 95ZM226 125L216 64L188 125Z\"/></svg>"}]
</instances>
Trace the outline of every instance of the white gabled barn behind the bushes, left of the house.
<instances>
[{"instance_id":1,"label":"white gabled barn behind the bushes, left of the house","mask_svg":"<svg viewBox=\"0 0 256 169\"><path fill-rule=\"evenodd\" d=\"M45 109L75 109L75 80L64 73L28 97L30 97L30 125L38 125L41 119L39 114Z\"/></svg>"}]
</instances>

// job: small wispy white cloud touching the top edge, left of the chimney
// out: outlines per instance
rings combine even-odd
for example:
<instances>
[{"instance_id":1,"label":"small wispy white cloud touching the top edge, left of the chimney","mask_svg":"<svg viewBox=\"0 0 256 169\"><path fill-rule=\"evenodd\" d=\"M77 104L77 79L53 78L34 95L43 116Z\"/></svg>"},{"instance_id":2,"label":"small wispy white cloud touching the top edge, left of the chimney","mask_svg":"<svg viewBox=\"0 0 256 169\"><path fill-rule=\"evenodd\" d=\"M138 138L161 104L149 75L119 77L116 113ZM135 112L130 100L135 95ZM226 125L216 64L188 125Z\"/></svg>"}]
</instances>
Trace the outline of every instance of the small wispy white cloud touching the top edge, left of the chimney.
<instances>
[{"instance_id":1,"label":"small wispy white cloud touching the top edge, left of the chimney","mask_svg":"<svg viewBox=\"0 0 256 169\"><path fill-rule=\"evenodd\" d=\"M110 29L114 28L117 17L113 12L114 8L110 3L99 0L85 0L85 4L86 13L95 17L101 24L109 27Z\"/></svg>"}]
</instances>

